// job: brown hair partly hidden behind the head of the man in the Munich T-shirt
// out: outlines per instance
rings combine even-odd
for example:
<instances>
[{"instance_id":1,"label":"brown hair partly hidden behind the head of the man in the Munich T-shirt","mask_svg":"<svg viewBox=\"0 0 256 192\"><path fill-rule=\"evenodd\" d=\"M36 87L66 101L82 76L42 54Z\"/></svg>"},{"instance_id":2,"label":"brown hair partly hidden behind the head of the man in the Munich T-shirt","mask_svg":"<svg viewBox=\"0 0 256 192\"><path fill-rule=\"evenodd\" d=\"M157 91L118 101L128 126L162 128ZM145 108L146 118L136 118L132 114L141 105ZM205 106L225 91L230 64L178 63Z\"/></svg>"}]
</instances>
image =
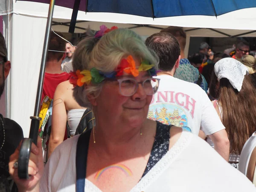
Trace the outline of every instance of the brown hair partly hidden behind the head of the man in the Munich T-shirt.
<instances>
[{"instance_id":1,"label":"brown hair partly hidden behind the head of the man in the Munich T-shirt","mask_svg":"<svg viewBox=\"0 0 256 192\"><path fill-rule=\"evenodd\" d=\"M185 47L186 47L186 32L183 30L182 27L169 26L169 27L167 27L165 29L162 29L160 32L170 33L173 36L175 36L175 38L180 43L180 48L182 50L185 49Z\"/></svg>"}]
</instances>

